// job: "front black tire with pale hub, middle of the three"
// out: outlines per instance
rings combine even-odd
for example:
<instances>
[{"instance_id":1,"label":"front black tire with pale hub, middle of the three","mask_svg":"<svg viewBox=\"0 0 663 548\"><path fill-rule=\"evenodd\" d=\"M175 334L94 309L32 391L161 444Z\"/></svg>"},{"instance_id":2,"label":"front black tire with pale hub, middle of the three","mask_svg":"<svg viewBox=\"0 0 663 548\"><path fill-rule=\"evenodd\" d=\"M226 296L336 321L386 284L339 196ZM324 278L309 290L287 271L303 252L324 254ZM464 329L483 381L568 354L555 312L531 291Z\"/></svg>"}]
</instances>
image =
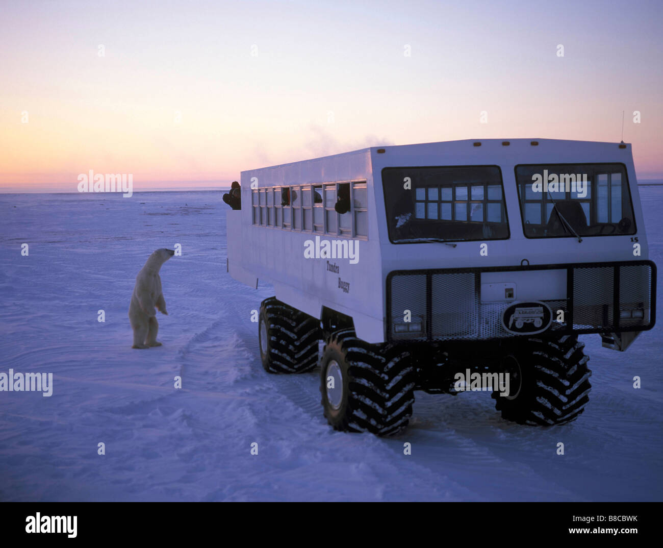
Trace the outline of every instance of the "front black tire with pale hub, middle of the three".
<instances>
[{"instance_id":1,"label":"front black tire with pale hub, middle of the three","mask_svg":"<svg viewBox=\"0 0 663 548\"><path fill-rule=\"evenodd\" d=\"M322 407L334 429L392 436L406 428L415 375L408 352L367 344L346 329L331 334L320 365ZM335 378L330 390L329 376Z\"/></svg>"}]
</instances>

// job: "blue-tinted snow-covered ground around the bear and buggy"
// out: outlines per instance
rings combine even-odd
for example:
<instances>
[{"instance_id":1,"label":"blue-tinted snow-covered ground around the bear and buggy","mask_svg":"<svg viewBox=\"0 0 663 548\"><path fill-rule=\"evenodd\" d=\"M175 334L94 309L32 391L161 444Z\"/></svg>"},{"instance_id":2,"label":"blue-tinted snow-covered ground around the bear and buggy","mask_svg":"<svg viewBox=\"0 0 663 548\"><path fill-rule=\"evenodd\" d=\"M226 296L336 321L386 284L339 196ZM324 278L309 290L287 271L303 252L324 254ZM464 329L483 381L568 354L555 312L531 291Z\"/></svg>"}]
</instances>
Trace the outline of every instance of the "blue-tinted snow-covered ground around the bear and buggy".
<instances>
[{"instance_id":1,"label":"blue-tinted snow-covered ground around the bear and buggy","mask_svg":"<svg viewBox=\"0 0 663 548\"><path fill-rule=\"evenodd\" d=\"M663 186L640 192L663 267ZM583 337L593 391L570 425L508 423L489 393L418 392L400 437L338 433L318 372L263 371L251 310L271 287L227 275L227 210L220 192L0 195L0 372L54 376L51 397L0 392L0 500L662 498L663 322L625 354ZM176 243L164 344L132 350L135 275Z\"/></svg>"}]
</instances>

